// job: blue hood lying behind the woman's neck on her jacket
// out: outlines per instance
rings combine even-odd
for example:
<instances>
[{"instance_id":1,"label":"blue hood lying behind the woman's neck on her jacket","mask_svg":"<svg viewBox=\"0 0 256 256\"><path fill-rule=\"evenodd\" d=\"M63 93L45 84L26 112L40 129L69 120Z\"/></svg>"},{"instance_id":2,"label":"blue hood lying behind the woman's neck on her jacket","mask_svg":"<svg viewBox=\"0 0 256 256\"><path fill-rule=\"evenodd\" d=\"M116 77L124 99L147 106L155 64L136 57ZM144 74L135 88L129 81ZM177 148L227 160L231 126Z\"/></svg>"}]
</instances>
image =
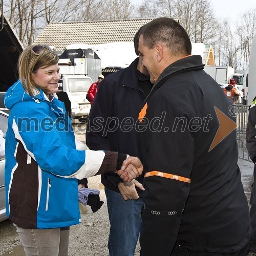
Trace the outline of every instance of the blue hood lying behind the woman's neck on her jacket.
<instances>
[{"instance_id":1,"label":"blue hood lying behind the woman's neck on her jacket","mask_svg":"<svg viewBox=\"0 0 256 256\"><path fill-rule=\"evenodd\" d=\"M7 109L11 110L13 106L19 102L27 101L27 100L38 100L38 99L46 99L44 96L44 92L42 92L39 88L37 88L39 94L36 93L34 97L31 97L23 88L20 80L15 82L12 87L10 87L5 95L5 106Z\"/></svg>"}]
</instances>

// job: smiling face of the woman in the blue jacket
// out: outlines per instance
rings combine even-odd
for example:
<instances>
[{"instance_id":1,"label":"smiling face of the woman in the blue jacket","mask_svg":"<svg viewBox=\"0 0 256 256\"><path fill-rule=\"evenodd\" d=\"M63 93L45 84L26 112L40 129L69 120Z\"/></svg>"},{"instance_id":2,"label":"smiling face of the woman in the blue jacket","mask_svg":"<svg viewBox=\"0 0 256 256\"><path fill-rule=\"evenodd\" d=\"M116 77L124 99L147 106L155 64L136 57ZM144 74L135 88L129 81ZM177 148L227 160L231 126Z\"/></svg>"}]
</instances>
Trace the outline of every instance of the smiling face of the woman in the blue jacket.
<instances>
[{"instance_id":1,"label":"smiling face of the woman in the blue jacket","mask_svg":"<svg viewBox=\"0 0 256 256\"><path fill-rule=\"evenodd\" d=\"M32 78L36 84L47 96L58 92L58 81L60 80L58 64L47 68L38 69L33 73Z\"/></svg>"}]
</instances>

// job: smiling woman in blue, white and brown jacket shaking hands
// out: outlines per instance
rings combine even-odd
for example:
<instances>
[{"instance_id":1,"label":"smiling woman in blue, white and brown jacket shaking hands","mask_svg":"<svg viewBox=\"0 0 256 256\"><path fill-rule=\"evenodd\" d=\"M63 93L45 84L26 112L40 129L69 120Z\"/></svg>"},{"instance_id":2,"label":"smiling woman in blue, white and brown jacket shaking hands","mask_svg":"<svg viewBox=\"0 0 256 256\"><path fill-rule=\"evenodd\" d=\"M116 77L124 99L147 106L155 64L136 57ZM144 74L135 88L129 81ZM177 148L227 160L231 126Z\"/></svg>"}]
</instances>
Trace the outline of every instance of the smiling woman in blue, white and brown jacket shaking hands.
<instances>
[{"instance_id":1,"label":"smiling woman in blue, white and brown jacket shaking hands","mask_svg":"<svg viewBox=\"0 0 256 256\"><path fill-rule=\"evenodd\" d=\"M28 46L18 70L20 80L5 96L6 213L26 255L66 256L69 226L81 222L77 179L116 172L123 162L119 172L131 181L143 167L125 154L76 150L71 119L56 97L58 55L49 46Z\"/></svg>"}]
</instances>

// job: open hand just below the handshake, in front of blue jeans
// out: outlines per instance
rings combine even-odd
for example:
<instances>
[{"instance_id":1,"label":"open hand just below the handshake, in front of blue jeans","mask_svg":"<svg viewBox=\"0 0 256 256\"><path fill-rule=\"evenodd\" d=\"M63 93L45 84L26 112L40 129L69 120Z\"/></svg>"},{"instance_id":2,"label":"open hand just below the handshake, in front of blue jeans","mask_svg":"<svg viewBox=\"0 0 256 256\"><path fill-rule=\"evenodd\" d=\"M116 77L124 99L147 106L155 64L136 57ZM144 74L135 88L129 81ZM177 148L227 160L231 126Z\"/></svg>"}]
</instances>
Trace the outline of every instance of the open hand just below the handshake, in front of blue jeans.
<instances>
[{"instance_id":1,"label":"open hand just below the handshake, in front of blue jeans","mask_svg":"<svg viewBox=\"0 0 256 256\"><path fill-rule=\"evenodd\" d=\"M128 199L130 200L139 199L139 195L136 191L135 186L137 186L141 190L145 190L142 184L139 183L137 180L132 180L132 182L122 181L118 184L118 189L125 201Z\"/></svg>"}]
</instances>

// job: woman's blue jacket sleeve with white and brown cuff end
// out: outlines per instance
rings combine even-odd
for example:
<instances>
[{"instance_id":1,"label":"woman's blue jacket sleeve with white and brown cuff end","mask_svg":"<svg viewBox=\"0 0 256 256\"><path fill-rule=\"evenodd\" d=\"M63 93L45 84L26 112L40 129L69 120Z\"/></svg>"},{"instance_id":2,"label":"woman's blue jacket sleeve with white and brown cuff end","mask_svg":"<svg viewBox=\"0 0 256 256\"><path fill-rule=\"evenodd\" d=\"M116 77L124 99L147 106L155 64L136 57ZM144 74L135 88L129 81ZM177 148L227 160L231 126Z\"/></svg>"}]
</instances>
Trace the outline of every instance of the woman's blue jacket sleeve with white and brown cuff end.
<instances>
[{"instance_id":1,"label":"woman's blue jacket sleeve with white and brown cuff end","mask_svg":"<svg viewBox=\"0 0 256 256\"><path fill-rule=\"evenodd\" d=\"M40 104L42 107L44 102ZM53 121L45 113L45 108L41 107L32 108L29 105L19 111L19 117L9 120L16 141L23 144L27 154L41 169L57 176L77 179L102 174L107 170L115 172L118 162L116 152L78 151L71 142L69 147L66 146L63 144L66 131L60 129L61 124L58 126L57 121ZM46 122L47 125L44 125Z\"/></svg>"}]
</instances>

